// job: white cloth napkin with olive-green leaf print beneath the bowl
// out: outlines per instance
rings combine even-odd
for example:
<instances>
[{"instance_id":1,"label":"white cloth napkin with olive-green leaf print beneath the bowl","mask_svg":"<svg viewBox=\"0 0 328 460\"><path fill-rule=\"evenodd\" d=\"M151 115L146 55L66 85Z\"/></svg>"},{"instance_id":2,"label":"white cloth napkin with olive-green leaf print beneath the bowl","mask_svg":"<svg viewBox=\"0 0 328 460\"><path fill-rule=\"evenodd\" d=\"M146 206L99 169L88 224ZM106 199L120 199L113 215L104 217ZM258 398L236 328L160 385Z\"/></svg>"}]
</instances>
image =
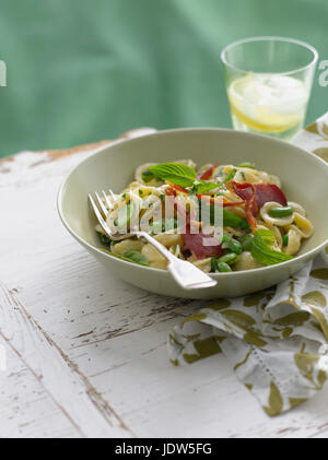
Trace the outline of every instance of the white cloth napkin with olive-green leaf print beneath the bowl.
<instances>
[{"instance_id":1,"label":"white cloth napkin with olive-green leaf print beneath the bowl","mask_svg":"<svg viewBox=\"0 0 328 460\"><path fill-rule=\"evenodd\" d=\"M328 113L293 143L328 161ZM221 352L270 416L320 390L328 379L328 250L276 288L214 302L169 333L174 365Z\"/></svg>"}]
</instances>

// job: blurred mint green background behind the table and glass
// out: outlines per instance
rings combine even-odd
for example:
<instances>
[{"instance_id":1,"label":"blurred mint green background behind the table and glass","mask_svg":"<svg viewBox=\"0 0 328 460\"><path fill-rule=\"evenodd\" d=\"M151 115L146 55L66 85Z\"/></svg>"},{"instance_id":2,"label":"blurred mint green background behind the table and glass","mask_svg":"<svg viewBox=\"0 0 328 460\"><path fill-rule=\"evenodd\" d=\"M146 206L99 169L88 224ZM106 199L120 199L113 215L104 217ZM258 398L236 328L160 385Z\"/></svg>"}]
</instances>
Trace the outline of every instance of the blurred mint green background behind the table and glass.
<instances>
[{"instance_id":1,"label":"blurred mint green background behind the table and glass","mask_svg":"<svg viewBox=\"0 0 328 460\"><path fill-rule=\"evenodd\" d=\"M0 156L140 126L230 127L220 52L290 36L328 59L327 0L0 0ZM315 81L307 121L328 109Z\"/></svg>"}]
</instances>

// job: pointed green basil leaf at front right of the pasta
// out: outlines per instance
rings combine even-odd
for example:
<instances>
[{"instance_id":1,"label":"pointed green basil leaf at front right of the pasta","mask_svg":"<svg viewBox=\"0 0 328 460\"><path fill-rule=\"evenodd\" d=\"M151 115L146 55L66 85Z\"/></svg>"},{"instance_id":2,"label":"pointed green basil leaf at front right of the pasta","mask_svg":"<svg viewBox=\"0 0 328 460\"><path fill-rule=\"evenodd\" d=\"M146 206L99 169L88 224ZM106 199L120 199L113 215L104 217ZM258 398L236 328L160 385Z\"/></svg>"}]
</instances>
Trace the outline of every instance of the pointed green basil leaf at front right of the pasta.
<instances>
[{"instance_id":1,"label":"pointed green basil leaf at front right of the pasta","mask_svg":"<svg viewBox=\"0 0 328 460\"><path fill-rule=\"evenodd\" d=\"M273 241L274 234L271 231L258 229L251 240L251 256L265 266L274 266L293 259L292 256L271 249L268 245Z\"/></svg>"}]
</instances>

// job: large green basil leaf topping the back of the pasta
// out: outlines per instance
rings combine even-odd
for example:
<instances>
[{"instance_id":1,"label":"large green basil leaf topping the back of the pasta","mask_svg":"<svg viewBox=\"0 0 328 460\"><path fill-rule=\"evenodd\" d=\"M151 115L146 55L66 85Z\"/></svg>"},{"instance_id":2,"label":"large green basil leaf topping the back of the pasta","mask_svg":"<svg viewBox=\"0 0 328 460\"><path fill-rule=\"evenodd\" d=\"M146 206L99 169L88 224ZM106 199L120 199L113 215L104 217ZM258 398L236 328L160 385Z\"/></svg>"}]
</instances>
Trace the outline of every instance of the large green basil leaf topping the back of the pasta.
<instances>
[{"instance_id":1,"label":"large green basil leaf topping the back of the pasta","mask_svg":"<svg viewBox=\"0 0 328 460\"><path fill-rule=\"evenodd\" d=\"M180 187L192 187L197 177L196 170L180 163L162 163L151 166L148 172L161 180L166 180Z\"/></svg>"}]
</instances>

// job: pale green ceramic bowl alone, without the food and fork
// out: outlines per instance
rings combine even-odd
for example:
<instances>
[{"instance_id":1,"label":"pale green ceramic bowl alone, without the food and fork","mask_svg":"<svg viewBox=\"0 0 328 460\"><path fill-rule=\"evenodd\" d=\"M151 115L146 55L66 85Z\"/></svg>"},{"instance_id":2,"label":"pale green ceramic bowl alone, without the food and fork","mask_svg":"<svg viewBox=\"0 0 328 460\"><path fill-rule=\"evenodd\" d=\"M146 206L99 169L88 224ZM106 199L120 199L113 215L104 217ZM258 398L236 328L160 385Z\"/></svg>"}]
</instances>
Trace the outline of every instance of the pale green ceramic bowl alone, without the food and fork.
<instances>
[{"instance_id":1,"label":"pale green ceramic bowl alone, without the food and fork","mask_svg":"<svg viewBox=\"0 0 328 460\"><path fill-rule=\"evenodd\" d=\"M255 163L258 169L282 179L290 201L300 202L314 223L315 235L295 259L279 266L212 276L218 285L209 290L184 291L171 274L136 266L97 249L95 220L87 193L112 188L121 191L142 163L191 158L198 165ZM58 197L60 217L67 229L110 273L153 293L175 297L220 298L241 296L272 286L301 270L324 250L328 236L328 164L292 144L265 135L223 129L183 129L118 142L82 162L66 179Z\"/></svg>"}]
</instances>

